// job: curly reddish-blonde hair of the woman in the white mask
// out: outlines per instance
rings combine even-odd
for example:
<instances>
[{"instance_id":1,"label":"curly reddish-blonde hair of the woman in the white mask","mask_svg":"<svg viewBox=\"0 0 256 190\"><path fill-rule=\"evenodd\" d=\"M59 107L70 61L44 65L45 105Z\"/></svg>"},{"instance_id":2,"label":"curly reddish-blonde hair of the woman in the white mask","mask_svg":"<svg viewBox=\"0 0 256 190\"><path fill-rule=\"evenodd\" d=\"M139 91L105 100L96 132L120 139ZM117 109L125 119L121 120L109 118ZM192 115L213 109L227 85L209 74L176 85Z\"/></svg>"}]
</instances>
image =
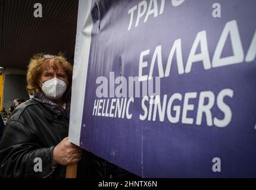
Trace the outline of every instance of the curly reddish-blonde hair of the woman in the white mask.
<instances>
[{"instance_id":1,"label":"curly reddish-blonde hair of the woman in the white mask","mask_svg":"<svg viewBox=\"0 0 256 190\"><path fill-rule=\"evenodd\" d=\"M44 55L45 54L43 53L38 53L34 55L32 59L30 59L27 70L27 90L29 91L29 94L33 95L34 93L40 93L40 91L42 91L39 86L39 80L43 70L48 66L49 61L53 63L52 67L54 68L54 70L58 69L59 66L64 69L65 73L67 74L68 80L67 91L64 95L66 95L67 93L69 94L71 92L73 66L61 53L59 53L57 56L52 56L50 58ZM52 61L52 59L54 61Z\"/></svg>"}]
</instances>

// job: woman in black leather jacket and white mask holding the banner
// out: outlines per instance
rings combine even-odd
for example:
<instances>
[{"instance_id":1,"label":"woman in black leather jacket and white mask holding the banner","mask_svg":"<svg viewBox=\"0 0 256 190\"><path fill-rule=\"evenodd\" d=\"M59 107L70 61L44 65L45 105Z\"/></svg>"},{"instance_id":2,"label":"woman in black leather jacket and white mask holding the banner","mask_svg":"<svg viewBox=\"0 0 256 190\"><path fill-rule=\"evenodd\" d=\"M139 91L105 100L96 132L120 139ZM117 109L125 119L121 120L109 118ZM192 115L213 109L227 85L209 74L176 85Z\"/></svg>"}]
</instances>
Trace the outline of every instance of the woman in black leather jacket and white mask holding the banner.
<instances>
[{"instance_id":1,"label":"woman in black leather jacket and white mask holding the banner","mask_svg":"<svg viewBox=\"0 0 256 190\"><path fill-rule=\"evenodd\" d=\"M64 178L79 162L80 147L68 141L72 66L59 56L36 55L27 71L33 99L18 105L0 142L2 178Z\"/></svg>"}]
</instances>

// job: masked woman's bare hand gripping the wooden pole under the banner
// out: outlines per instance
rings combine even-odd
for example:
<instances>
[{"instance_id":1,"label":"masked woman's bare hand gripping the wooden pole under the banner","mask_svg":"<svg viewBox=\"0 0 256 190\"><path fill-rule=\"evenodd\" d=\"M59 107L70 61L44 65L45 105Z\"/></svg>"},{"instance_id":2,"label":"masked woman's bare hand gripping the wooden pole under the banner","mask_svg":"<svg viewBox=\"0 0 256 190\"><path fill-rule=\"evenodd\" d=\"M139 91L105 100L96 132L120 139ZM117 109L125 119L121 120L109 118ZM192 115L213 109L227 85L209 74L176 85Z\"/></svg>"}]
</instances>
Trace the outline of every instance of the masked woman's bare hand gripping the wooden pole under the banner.
<instances>
[{"instance_id":1,"label":"masked woman's bare hand gripping the wooden pole under the banner","mask_svg":"<svg viewBox=\"0 0 256 190\"><path fill-rule=\"evenodd\" d=\"M52 159L54 164L67 166L79 162L81 153L82 148L70 143L66 137L54 148Z\"/></svg>"}]
</instances>

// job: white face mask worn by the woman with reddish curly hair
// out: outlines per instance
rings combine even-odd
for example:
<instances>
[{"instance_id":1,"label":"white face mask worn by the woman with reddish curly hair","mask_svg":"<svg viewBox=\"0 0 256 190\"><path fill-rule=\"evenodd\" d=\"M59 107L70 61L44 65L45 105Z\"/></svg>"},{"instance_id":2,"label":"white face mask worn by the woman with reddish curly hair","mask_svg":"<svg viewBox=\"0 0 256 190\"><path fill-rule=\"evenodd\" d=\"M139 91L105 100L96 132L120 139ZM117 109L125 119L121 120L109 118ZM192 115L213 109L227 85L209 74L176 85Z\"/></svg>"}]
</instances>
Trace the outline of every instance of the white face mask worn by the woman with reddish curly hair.
<instances>
[{"instance_id":1,"label":"white face mask worn by the woman with reddish curly hair","mask_svg":"<svg viewBox=\"0 0 256 190\"><path fill-rule=\"evenodd\" d=\"M40 83L42 82L40 81ZM58 78L52 78L42 84L43 93L45 93L45 96L49 99L59 99L67 89L67 84Z\"/></svg>"}]
</instances>

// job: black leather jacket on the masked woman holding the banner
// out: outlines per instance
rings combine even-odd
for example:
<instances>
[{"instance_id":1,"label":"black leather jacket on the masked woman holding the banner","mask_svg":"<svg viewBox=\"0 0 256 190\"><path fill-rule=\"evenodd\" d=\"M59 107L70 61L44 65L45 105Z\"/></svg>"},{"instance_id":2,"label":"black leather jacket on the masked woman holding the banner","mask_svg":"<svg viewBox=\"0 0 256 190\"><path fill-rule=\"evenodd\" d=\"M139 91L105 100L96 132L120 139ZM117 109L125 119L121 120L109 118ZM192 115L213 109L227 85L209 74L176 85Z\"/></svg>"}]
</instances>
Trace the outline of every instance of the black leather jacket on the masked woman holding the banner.
<instances>
[{"instance_id":1,"label":"black leather jacket on the masked woman holding the banner","mask_svg":"<svg viewBox=\"0 0 256 190\"><path fill-rule=\"evenodd\" d=\"M36 100L22 103L8 119L0 142L1 177L64 178L65 167L52 166L52 151L67 136L65 115L52 113ZM42 160L42 172L35 172L35 158Z\"/></svg>"}]
</instances>

